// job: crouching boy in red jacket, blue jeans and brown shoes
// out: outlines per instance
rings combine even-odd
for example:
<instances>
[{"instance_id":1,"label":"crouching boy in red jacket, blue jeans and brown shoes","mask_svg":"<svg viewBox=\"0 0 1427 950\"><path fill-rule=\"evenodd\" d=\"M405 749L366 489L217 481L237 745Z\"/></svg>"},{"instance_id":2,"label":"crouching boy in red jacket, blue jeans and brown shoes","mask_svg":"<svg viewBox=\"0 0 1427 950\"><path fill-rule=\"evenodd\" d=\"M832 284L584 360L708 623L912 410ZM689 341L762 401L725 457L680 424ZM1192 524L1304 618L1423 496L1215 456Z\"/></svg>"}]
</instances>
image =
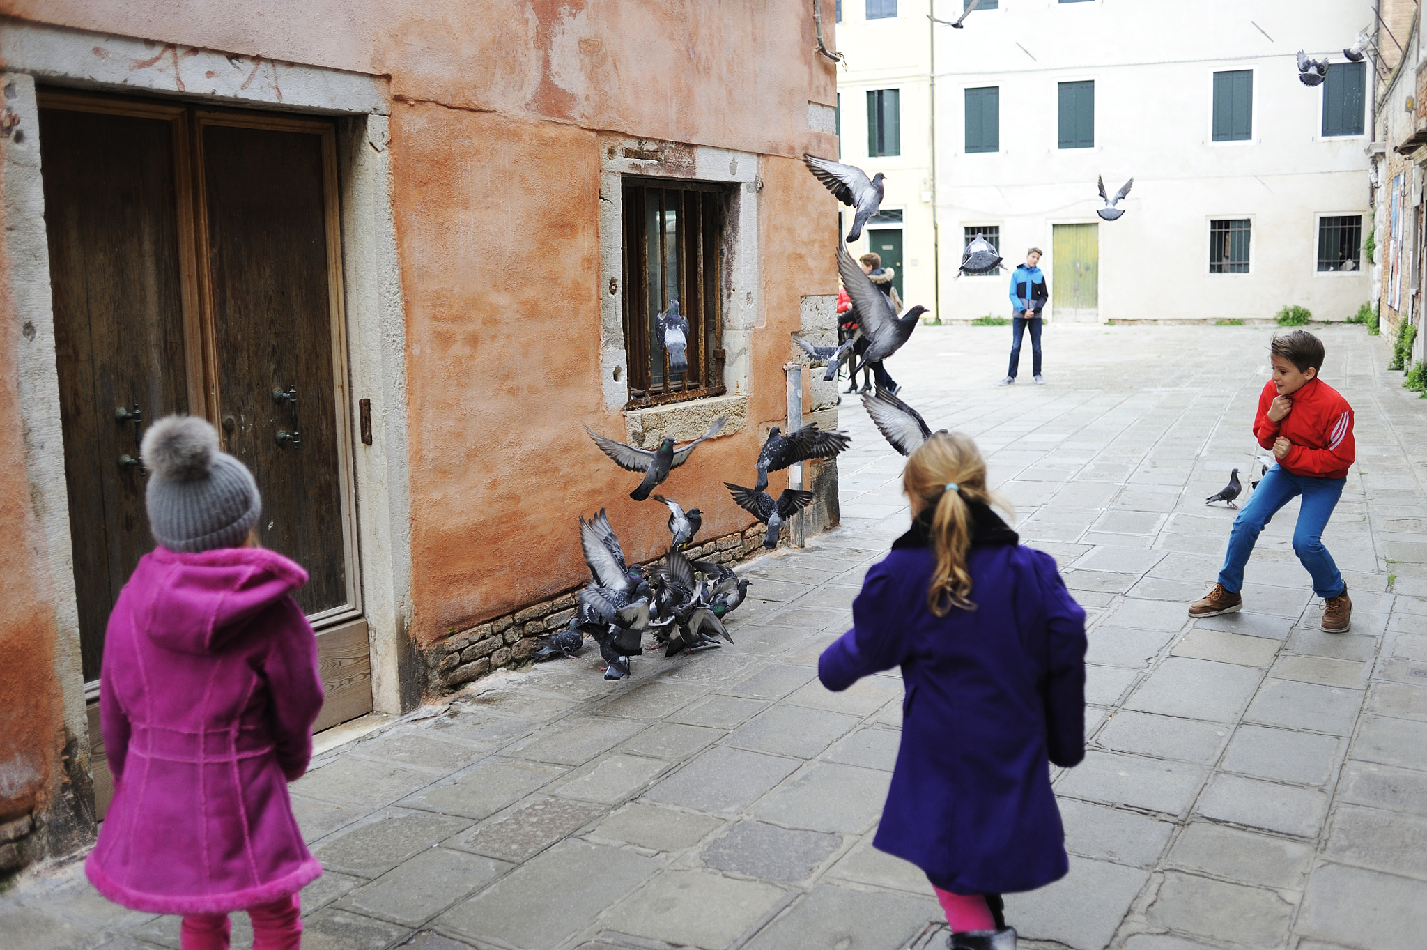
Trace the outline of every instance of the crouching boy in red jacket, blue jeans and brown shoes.
<instances>
[{"instance_id":1,"label":"crouching boy in red jacket, blue jeans and brown shoes","mask_svg":"<svg viewBox=\"0 0 1427 950\"><path fill-rule=\"evenodd\" d=\"M1333 555L1323 546L1323 529L1343 495L1347 469L1356 456L1353 407L1319 379L1323 342L1313 334L1294 330L1276 337L1269 354L1273 378L1259 394L1253 434L1279 462L1264 474L1234 519L1219 583L1209 596L1189 606L1189 615L1214 616L1243 606L1239 592L1244 583L1244 563L1259 532L1294 495L1303 495L1299 523L1293 529L1293 552L1313 575L1313 592L1324 599L1323 629L1344 633L1353 619L1353 602Z\"/></svg>"}]
</instances>

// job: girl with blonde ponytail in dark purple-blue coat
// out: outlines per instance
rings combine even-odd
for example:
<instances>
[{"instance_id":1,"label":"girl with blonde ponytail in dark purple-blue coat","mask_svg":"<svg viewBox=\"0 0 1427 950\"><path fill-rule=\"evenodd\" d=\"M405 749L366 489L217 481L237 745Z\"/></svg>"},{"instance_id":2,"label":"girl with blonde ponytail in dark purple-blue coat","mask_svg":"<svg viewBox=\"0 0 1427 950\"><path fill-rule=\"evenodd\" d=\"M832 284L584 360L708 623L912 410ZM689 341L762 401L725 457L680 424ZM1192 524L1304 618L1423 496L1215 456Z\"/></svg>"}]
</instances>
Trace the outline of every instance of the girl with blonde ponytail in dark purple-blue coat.
<instances>
[{"instance_id":1,"label":"girl with blonde ponytail in dark purple-blue coat","mask_svg":"<svg viewBox=\"0 0 1427 950\"><path fill-rule=\"evenodd\" d=\"M902 668L902 746L873 844L923 872L952 950L1013 950L1003 892L1069 870L1047 760L1085 756L1085 611L996 516L986 464L938 432L906 462L912 529L818 660L832 690Z\"/></svg>"}]
</instances>

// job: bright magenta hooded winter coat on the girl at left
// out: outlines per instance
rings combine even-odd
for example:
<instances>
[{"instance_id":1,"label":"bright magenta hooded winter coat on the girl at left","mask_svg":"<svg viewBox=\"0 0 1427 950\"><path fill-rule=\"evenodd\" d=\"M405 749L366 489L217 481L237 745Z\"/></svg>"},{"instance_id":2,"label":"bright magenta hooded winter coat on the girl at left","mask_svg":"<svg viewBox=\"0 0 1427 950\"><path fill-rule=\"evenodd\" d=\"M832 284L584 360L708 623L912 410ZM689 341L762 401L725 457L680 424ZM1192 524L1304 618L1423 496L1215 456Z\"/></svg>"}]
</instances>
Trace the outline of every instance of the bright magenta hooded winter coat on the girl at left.
<instances>
[{"instance_id":1,"label":"bright magenta hooded winter coat on the girl at left","mask_svg":"<svg viewBox=\"0 0 1427 950\"><path fill-rule=\"evenodd\" d=\"M227 913L323 873L287 797L323 708L304 583L263 548L157 548L124 585L100 680L114 800L84 863L114 903Z\"/></svg>"}]
</instances>

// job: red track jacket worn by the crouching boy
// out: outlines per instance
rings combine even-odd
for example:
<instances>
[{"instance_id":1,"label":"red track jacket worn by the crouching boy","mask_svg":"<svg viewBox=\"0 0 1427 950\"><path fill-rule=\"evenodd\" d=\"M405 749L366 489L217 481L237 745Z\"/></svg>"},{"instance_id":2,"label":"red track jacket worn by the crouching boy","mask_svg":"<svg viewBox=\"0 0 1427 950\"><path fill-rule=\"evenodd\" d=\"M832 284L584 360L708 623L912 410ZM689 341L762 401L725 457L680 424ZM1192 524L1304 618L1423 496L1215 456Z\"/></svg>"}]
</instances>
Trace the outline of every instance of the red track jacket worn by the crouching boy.
<instances>
[{"instance_id":1,"label":"red track jacket worn by the crouching boy","mask_svg":"<svg viewBox=\"0 0 1427 950\"><path fill-rule=\"evenodd\" d=\"M1339 391L1321 379L1310 379L1290 395L1293 411L1280 422L1269 418L1269 404L1279 395L1273 382L1266 382L1259 394L1259 414L1253 419L1253 434L1259 445L1273 449L1280 435L1293 448L1279 459L1290 475L1313 478L1346 478L1347 468L1357 458L1353 442L1353 407Z\"/></svg>"}]
</instances>

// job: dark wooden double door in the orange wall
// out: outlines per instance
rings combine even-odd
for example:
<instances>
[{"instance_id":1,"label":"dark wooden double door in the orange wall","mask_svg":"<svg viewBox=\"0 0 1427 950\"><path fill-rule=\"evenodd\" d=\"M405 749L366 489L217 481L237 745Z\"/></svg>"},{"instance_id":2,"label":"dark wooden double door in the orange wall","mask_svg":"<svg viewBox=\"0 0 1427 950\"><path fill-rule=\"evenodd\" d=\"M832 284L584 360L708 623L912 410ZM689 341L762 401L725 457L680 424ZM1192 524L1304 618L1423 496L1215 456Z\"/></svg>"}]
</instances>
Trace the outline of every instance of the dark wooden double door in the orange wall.
<instances>
[{"instance_id":1,"label":"dark wooden double door in the orange wall","mask_svg":"<svg viewBox=\"0 0 1427 950\"><path fill-rule=\"evenodd\" d=\"M320 725L370 710L334 124L47 90L40 154L86 682L154 545L141 432L190 412L257 478L260 543L311 575Z\"/></svg>"}]
</instances>

